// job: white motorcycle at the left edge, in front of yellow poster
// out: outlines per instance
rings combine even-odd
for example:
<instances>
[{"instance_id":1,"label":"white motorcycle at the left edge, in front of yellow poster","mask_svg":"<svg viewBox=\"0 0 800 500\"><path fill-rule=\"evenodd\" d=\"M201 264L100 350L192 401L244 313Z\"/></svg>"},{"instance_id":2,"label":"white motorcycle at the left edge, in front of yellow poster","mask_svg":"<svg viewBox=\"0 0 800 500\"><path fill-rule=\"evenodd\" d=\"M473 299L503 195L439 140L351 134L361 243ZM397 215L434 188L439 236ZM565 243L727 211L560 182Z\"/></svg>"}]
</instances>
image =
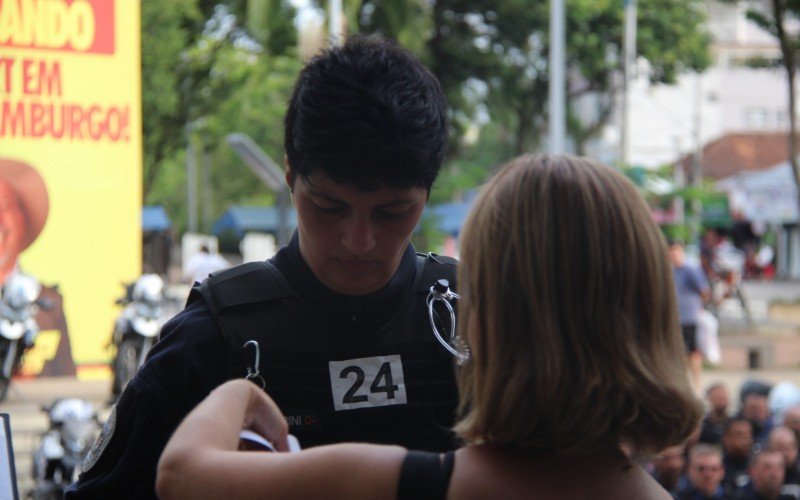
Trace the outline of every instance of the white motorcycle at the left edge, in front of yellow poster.
<instances>
[{"instance_id":1,"label":"white motorcycle at the left edge, in front of yellow poster","mask_svg":"<svg viewBox=\"0 0 800 500\"><path fill-rule=\"evenodd\" d=\"M6 280L0 292L0 401L8 396L22 356L33 347L39 334L37 311L52 307L49 301L39 298L41 291L36 278L17 273Z\"/></svg>"}]
</instances>

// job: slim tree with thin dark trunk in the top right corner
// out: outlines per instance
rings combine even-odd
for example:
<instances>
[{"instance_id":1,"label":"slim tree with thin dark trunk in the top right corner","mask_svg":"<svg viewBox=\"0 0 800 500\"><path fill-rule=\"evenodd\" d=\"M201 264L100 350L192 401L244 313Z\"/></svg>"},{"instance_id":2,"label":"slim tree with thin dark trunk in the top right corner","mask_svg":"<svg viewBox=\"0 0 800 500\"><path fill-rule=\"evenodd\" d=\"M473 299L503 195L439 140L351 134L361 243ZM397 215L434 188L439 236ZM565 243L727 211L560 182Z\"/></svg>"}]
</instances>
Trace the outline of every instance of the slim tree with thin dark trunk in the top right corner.
<instances>
[{"instance_id":1,"label":"slim tree with thin dark trunk in the top right corner","mask_svg":"<svg viewBox=\"0 0 800 500\"><path fill-rule=\"evenodd\" d=\"M747 17L778 39L781 48L781 64L786 72L787 95L789 97L789 164L797 186L797 207L800 213L800 164L797 161L797 51L800 49L800 33L787 30L787 21L800 20L799 0L769 0L769 8L750 0Z\"/></svg>"}]
</instances>

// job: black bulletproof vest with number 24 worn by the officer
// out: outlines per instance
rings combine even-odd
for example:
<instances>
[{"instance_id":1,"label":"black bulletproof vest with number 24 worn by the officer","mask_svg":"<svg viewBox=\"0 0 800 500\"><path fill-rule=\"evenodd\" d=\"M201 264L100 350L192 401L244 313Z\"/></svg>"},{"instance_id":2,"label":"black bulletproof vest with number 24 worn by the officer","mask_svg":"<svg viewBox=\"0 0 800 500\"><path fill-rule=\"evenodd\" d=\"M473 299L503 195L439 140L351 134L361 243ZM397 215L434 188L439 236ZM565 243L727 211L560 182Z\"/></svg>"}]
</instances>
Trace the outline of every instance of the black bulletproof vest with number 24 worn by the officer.
<instances>
[{"instance_id":1,"label":"black bulletproof vest with number 24 worn by the officer","mask_svg":"<svg viewBox=\"0 0 800 500\"><path fill-rule=\"evenodd\" d=\"M453 357L436 341L426 298L455 283L456 261L417 255L412 293L369 335L342 332L309 307L270 262L212 275L196 292L219 323L231 378L258 372L301 446L346 441L453 449ZM259 381L260 382L260 381Z\"/></svg>"}]
</instances>

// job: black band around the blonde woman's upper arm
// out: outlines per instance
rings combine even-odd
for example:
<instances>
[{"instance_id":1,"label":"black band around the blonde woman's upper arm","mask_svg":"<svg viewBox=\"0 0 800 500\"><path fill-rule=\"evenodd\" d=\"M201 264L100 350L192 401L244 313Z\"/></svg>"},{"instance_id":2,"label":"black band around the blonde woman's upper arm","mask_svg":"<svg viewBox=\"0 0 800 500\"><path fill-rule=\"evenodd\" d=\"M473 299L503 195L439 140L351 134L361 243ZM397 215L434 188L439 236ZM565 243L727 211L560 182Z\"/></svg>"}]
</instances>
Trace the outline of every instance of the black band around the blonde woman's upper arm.
<instances>
[{"instance_id":1,"label":"black band around the blonde woman's upper arm","mask_svg":"<svg viewBox=\"0 0 800 500\"><path fill-rule=\"evenodd\" d=\"M441 500L455 465L455 452L445 454L410 450L403 460L397 483L397 500Z\"/></svg>"}]
</instances>

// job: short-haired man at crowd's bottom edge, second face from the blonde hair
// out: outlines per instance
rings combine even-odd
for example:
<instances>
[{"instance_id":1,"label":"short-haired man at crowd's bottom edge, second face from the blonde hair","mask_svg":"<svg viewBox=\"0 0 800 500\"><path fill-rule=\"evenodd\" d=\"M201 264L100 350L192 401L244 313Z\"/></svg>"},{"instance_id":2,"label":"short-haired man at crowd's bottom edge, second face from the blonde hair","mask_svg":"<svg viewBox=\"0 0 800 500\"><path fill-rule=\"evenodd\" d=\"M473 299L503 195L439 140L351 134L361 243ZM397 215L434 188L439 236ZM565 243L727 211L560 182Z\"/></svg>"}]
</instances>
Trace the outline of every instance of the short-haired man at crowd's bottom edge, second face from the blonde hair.
<instances>
[{"instance_id":1,"label":"short-haired man at crowd's bottom edge, second face from the blonde hair","mask_svg":"<svg viewBox=\"0 0 800 500\"><path fill-rule=\"evenodd\" d=\"M699 443L689 451L688 484L673 497L676 500L729 500L732 492L723 484L724 476L720 449Z\"/></svg>"}]
</instances>

